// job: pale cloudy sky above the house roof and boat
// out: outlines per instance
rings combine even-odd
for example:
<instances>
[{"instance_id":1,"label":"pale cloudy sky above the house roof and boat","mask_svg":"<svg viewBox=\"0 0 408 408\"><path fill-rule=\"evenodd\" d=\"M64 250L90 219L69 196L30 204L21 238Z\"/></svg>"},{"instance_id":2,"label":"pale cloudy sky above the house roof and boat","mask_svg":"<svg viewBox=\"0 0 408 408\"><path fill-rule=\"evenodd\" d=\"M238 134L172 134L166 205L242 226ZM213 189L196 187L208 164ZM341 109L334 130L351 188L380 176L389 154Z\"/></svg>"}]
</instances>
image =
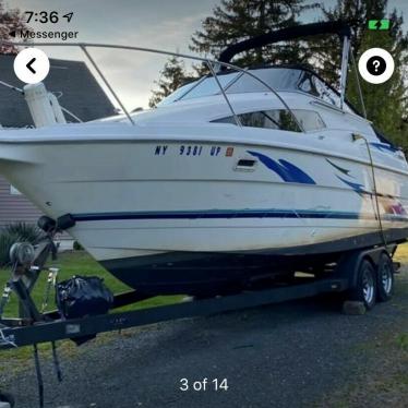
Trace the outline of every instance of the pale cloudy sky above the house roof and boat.
<instances>
[{"instance_id":1,"label":"pale cloudy sky above the house roof and boat","mask_svg":"<svg viewBox=\"0 0 408 408\"><path fill-rule=\"evenodd\" d=\"M21 11L73 12L70 23L40 24L31 22L35 31L77 31L76 40L158 48L188 52L191 35L201 28L202 21L212 15L220 0L5 0L9 8ZM324 1L331 7L335 0ZM405 16L408 29L408 1L389 0ZM317 21L313 11L304 22ZM43 41L43 40L41 40ZM74 47L44 47L50 58L85 60ZM100 70L123 101L127 109L146 107L154 81L166 57L135 51L91 49Z\"/></svg>"}]
</instances>

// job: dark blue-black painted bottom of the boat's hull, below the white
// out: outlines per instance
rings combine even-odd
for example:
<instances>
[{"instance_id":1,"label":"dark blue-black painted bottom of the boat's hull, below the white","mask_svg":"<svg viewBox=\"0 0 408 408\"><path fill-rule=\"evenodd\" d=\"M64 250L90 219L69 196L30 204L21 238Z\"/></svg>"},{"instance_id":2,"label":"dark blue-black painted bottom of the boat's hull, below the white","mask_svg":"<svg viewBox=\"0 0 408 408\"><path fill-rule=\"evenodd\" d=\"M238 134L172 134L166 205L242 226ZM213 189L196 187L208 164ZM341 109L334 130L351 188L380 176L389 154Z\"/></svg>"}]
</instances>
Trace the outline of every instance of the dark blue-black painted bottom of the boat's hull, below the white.
<instances>
[{"instance_id":1,"label":"dark blue-black painted bottom of the boat's hull, below the white","mask_svg":"<svg viewBox=\"0 0 408 408\"><path fill-rule=\"evenodd\" d=\"M388 229L387 242L404 242L408 228ZM215 296L262 287L295 272L321 272L346 252L383 243L379 232L259 253L168 252L100 261L119 280L146 295Z\"/></svg>"}]
</instances>

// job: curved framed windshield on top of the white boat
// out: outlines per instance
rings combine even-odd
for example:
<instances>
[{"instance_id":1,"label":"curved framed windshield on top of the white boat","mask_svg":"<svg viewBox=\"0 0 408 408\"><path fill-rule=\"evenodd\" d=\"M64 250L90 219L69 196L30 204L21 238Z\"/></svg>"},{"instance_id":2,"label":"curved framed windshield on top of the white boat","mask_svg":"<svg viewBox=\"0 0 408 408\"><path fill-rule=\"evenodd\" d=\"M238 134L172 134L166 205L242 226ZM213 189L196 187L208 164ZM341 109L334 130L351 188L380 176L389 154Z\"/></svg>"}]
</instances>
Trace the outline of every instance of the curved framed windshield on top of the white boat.
<instances>
[{"instance_id":1,"label":"curved framed windshield on top of the white boat","mask_svg":"<svg viewBox=\"0 0 408 408\"><path fill-rule=\"evenodd\" d=\"M298 68L268 67L251 69L249 72L275 91L307 93L340 108L339 95L311 71ZM244 72L219 73L217 77L227 94L268 91L263 83ZM216 94L220 94L219 86L214 76L207 76L181 86L161 100L158 106Z\"/></svg>"}]
</instances>

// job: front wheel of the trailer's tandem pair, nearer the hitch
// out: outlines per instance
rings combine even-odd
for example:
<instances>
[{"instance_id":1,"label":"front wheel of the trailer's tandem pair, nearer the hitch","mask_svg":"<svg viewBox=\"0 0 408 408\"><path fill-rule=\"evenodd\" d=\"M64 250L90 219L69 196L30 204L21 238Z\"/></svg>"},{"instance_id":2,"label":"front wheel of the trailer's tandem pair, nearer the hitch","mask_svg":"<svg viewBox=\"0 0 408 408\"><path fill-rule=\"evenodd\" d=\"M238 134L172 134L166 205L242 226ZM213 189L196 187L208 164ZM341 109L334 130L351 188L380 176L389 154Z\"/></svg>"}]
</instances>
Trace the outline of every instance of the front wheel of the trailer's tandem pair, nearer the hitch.
<instances>
[{"instance_id":1,"label":"front wheel of the trailer's tandem pair, nearer the hitch","mask_svg":"<svg viewBox=\"0 0 408 408\"><path fill-rule=\"evenodd\" d=\"M368 310L375 304L376 274L368 260L362 260L357 276L356 287L350 292L350 300L363 302Z\"/></svg>"}]
</instances>

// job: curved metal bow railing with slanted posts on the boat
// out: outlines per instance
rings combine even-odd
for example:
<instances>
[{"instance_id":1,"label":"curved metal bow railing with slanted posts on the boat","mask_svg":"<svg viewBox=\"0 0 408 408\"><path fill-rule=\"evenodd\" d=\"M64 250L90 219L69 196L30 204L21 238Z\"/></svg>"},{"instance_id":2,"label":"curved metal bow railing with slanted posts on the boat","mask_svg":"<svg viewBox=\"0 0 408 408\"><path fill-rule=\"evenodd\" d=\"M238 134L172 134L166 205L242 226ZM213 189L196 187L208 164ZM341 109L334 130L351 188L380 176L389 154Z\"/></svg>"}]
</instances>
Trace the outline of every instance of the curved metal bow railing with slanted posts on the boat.
<instances>
[{"instance_id":1,"label":"curved metal bow railing with slanted posts on the boat","mask_svg":"<svg viewBox=\"0 0 408 408\"><path fill-rule=\"evenodd\" d=\"M214 59L202 58L202 57L191 56L191 55L181 53L181 52L171 52L171 51L165 51L165 50L160 50L160 49L145 48L145 47L120 46L120 45L113 45L113 44L95 44L95 43L28 43L27 44L27 43L23 43L23 41L13 43L13 41L2 41L2 40L0 40L0 44L5 45L5 46L13 46L13 47L33 47L33 46L36 46L36 47L79 47L79 48L81 48L83 50L83 52L85 53L86 58L89 60L91 64L94 67L96 72L99 74L99 76L103 80L106 87L111 93L115 100L118 103L118 105L120 106L120 108L122 109L122 111L124 112L124 115L127 116L127 118L129 119L131 124L133 124L133 125L135 124L133 118L131 117L131 115L129 113L129 111L127 110L124 105L122 104L121 99L119 98L119 96L116 94L116 92L113 91L113 88L109 84L109 82L106 79L106 76L104 75L104 73L100 71L96 61L91 56L91 53L88 51L88 48L110 48L110 49L121 49L121 50L131 50L131 51L144 51L144 52L159 53L159 55L165 55L165 56L179 57L179 58L184 58L184 59L189 59L189 60L193 60L193 61L204 62L208 67L208 70L209 70L211 74L214 76L214 79L217 83L217 86L219 87L220 94L223 95L224 99L226 100L226 103L227 103L227 105L228 105L228 107L229 107L229 109L232 113L232 117L235 118L235 121L236 121L237 125L239 125L239 127L242 127L242 123L241 123L238 115L235 112L233 107L232 107L232 105L231 105L221 83L219 82L219 79L218 79L218 75L217 75L216 71L219 67L221 67L221 68L225 68L225 69L228 68L228 69L231 69L233 71L241 72L244 75L249 75L249 76L253 77L255 81L257 81L262 85L264 85L266 89L268 89L271 93L273 93L279 99L279 101L284 105L285 109L288 110L288 112L291 115L291 117L293 118L293 120L297 123L297 125L299 127L299 129L302 132L304 132L304 128L303 128L302 123L298 120L298 118L293 113L292 109L288 106L288 104L277 93L276 89L274 89L271 85L268 85L265 81L257 77L252 72L249 72L245 69L242 69L240 67L233 65L233 64L228 63L228 62L221 62L221 61L217 61L217 60L214 60Z\"/></svg>"}]
</instances>

